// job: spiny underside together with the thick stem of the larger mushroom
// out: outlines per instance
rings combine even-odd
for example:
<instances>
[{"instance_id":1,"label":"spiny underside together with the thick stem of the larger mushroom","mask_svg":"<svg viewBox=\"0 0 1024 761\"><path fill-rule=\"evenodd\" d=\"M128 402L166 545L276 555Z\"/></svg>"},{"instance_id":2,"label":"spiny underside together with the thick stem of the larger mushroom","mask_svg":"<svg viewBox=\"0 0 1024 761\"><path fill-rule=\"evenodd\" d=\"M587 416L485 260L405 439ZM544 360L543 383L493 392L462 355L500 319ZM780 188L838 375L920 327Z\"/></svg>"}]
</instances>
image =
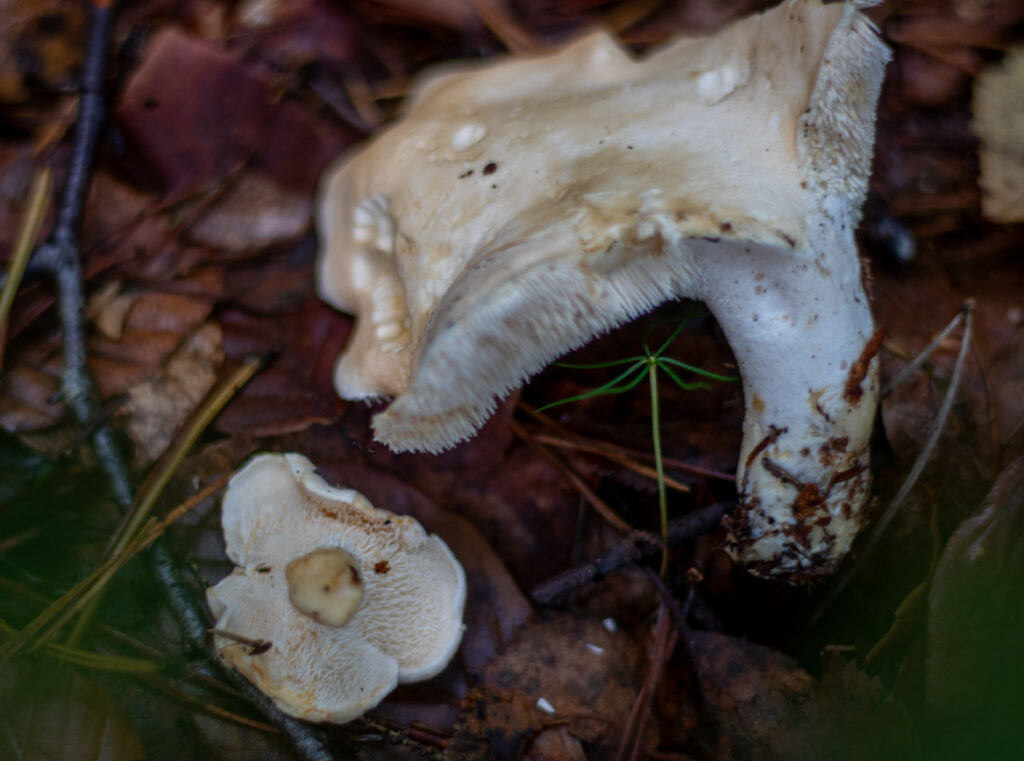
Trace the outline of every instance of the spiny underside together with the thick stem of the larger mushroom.
<instances>
[{"instance_id":1,"label":"spiny underside together with the thick stem of the larger mushroom","mask_svg":"<svg viewBox=\"0 0 1024 761\"><path fill-rule=\"evenodd\" d=\"M740 509L727 546L760 574L830 573L860 529L878 395L859 270L844 274L834 261L849 245L819 253L722 240L675 246L600 277L558 256L501 278L498 265L471 268L435 310L412 382L375 417L375 436L395 451L446 449L566 351L665 301L699 299L743 382Z\"/></svg>"}]
</instances>

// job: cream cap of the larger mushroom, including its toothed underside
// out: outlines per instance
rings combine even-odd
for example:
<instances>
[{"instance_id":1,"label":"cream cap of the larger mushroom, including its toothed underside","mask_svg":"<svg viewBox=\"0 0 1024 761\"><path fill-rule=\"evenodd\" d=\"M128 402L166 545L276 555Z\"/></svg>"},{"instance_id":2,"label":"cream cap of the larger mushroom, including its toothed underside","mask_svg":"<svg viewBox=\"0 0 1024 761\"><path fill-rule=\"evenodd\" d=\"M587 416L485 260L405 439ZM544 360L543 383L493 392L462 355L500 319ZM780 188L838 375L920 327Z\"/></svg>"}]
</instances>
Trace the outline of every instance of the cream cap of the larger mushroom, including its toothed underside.
<instances>
[{"instance_id":1,"label":"cream cap of the larger mushroom, including its toothed underside","mask_svg":"<svg viewBox=\"0 0 1024 761\"><path fill-rule=\"evenodd\" d=\"M440 451L565 351L700 298L690 241L812 260L822 198L859 208L869 171L886 53L854 5L783 3L639 59L598 32L428 76L325 174L317 287L359 314L339 394L396 396L378 439Z\"/></svg>"}]
</instances>

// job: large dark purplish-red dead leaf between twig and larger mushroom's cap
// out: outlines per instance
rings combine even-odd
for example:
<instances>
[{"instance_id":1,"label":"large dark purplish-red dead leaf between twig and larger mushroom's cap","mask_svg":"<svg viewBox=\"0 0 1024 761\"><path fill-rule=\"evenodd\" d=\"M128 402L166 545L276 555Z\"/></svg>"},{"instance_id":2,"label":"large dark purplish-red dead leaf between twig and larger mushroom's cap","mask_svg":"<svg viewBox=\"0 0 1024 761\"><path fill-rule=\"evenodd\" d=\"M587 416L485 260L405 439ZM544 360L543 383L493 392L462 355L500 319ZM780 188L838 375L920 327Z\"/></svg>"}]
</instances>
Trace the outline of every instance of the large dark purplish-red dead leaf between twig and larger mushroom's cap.
<instances>
[{"instance_id":1,"label":"large dark purplish-red dead leaf between twig and larger mushroom's cap","mask_svg":"<svg viewBox=\"0 0 1024 761\"><path fill-rule=\"evenodd\" d=\"M163 28L116 110L126 170L145 173L165 203L213 188L247 162L311 194L351 136L308 109L279 100L265 78L218 47Z\"/></svg>"}]
</instances>

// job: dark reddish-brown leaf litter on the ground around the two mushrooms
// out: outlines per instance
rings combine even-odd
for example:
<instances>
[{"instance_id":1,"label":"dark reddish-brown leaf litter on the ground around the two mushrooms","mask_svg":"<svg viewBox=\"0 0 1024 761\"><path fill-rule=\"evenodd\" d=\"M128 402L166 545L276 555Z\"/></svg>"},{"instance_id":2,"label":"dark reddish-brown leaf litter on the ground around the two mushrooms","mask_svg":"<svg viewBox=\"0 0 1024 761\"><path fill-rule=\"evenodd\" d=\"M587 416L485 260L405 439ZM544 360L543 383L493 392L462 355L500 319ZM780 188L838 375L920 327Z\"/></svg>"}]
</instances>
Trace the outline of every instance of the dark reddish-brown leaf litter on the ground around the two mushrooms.
<instances>
[{"instance_id":1,"label":"dark reddish-brown leaf litter on the ground around the two mushrooms","mask_svg":"<svg viewBox=\"0 0 1024 761\"><path fill-rule=\"evenodd\" d=\"M62 176L60 140L69 121L61 101L73 97L82 44L81 19L62 6L55 13L43 0L11 5L22 20L0 30L0 54L29 52L0 77L3 241L13 240L24 214L26 168L46 164L58 181ZM1012 757L1019 747L1014 717L1022 702L1013 685L1021 664L1012 643L1020 639L1024 609L1014 594L1024 541L1015 462L1024 454L1024 240L1019 226L981 215L970 130L976 75L1019 42L1010 31L1024 18L1018 4L883 3L871 11L896 56L862 225L874 311L888 330L884 376L899 373L969 298L976 326L962 390L932 464L872 560L817 624L810 621L827 582L793 592L751 581L717 549L722 537L716 532L672 550L666 587L689 601L687 627L671 627L675 648L666 646L669 624L657 623L663 593L636 567L612 570L558 608L540 609L524 590L585 564L621 539L595 519L562 470L512 434L509 421L536 434L561 434L517 412L513 399L475 439L450 453L396 456L370 439L373 411L331 390L334 357L351 321L313 292L312 191L327 161L393 112L410 76L430 61L563 39L597 19L635 18L624 36L646 45L672 32L716 28L763 5L154 0L121 14L110 83L114 126L103 138L85 214L83 264L93 304L92 372L137 464L166 446L223 363L271 351L171 483L165 507L186 498L193 480L209 482L252 452L296 449L329 480L416 515L445 539L470 576L457 662L435 682L399 689L365 722L332 730L339 747L354 747L365 758L573 761L634 754L995 759ZM34 145L42 146L38 154ZM7 250L0 252L4 258ZM68 422L60 404L52 306L48 287L23 286L0 377L0 425L13 434L0 441L0 461L28 462L14 436L42 453L30 475L10 479L5 490L0 575L51 598L80 578L113 531L110 512L83 503L94 512L75 552L54 562L42 551L54 525L70 525L61 517L66 509L40 499L50 491L46 473L59 467L79 479L89 467L77 455L83 432ZM647 327L672 308L596 341L571 361L635 354ZM878 509L897 492L928 436L957 350L955 337L940 345L883 403L887 443L878 448ZM711 321L688 326L676 355L726 371L731 362ZM600 383L553 368L522 398L538 407ZM738 389L683 392L666 384L660 390L666 461L729 468L738 448ZM559 410L555 418L573 438L649 450L643 394L588 398L578 408ZM558 450L557 456L626 522L656 530L649 479L600 452ZM733 496L726 481L671 464L668 474L691 489L670 495L672 516ZM224 572L212 500L171 531L181 554L199 558L211 581L218 567ZM933 537L944 549L931 575ZM73 540L65 534L61 541ZM79 575L69 573L70 564ZM865 668L864 656L923 580L927 609L910 623L906 639ZM175 653L166 622L131 615L146 588L141 572L118 584L124 596L104 606L101 620L113 616ZM8 602L5 621L24 624L28 611L8 610ZM144 609L152 619L157 608ZM657 632L663 645L654 651ZM195 664L176 658L185 674L194 672ZM8 686L23 684L26 673L29 682L38 679L49 667L33 659L17 672L11 668L3 667ZM185 683L201 702L213 700L187 676ZM16 697L11 703L5 693L8 717L39 700L24 685L10 689ZM137 748L134 729L118 723L123 708L116 693L106 703L76 686L59 700L60 716L69 717L63 732L20 724L18 736L29 731L30 743L71 748L69 732L79 729L70 727L113 726L112 738ZM194 705L154 700L182 717L178 736L188 742L178 747L184 753L178 758L287 753L280 737L203 714L188 720ZM246 711L234 696L224 700ZM142 722L146 751L168 756L152 729Z\"/></svg>"}]
</instances>

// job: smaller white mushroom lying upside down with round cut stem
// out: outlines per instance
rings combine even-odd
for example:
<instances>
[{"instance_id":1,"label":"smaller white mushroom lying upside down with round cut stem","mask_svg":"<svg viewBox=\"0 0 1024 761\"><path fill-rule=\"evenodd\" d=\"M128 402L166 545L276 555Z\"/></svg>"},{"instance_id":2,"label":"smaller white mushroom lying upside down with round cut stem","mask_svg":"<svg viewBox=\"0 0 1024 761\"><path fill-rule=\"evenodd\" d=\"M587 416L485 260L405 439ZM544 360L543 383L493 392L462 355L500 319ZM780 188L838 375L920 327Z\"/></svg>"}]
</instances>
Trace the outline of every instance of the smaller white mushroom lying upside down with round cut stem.
<instances>
[{"instance_id":1,"label":"smaller white mushroom lying upside down with round cut stem","mask_svg":"<svg viewBox=\"0 0 1024 761\"><path fill-rule=\"evenodd\" d=\"M217 651L285 713L349 721L455 654L466 579L451 550L301 455L251 460L222 522L239 567L207 591Z\"/></svg>"}]
</instances>

